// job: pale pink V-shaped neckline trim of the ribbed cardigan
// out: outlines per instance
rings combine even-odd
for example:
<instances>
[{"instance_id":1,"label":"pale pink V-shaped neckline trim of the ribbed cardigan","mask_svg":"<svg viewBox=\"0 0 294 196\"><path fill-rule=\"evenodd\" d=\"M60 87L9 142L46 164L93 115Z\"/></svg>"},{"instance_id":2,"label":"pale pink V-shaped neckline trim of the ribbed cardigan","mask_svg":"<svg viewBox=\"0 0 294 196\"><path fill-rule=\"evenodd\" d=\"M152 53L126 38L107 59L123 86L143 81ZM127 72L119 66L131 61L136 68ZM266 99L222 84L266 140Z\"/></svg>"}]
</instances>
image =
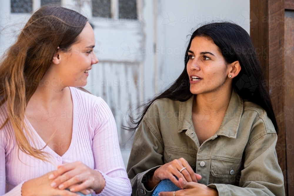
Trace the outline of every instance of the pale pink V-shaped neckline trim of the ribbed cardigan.
<instances>
[{"instance_id":1,"label":"pale pink V-shaped neckline trim of the ribbed cardigan","mask_svg":"<svg viewBox=\"0 0 294 196\"><path fill-rule=\"evenodd\" d=\"M73 127L72 127L72 133L71 133L71 144L69 145L69 149L66 150L66 152L60 156L59 154L57 154L54 150L52 150L48 145L44 148L44 150L53 155L54 157L62 157L62 158L66 158L68 157L71 152L74 150L74 146L76 145L76 123L77 123L77 106L76 106L76 97L75 97L75 94L74 94L74 89L71 89L71 87L69 87L70 91L71 91L71 98L72 98L72 102L73 102ZM44 147L46 145L46 143L44 142L44 140L40 137L40 135L36 132L36 130L34 129L34 127L31 125L30 121L28 118L26 118L25 116L25 119L26 119L26 124L28 125L29 127L29 130L32 131L32 133L37 137L37 140L39 142L41 142L41 146Z\"/></svg>"}]
</instances>

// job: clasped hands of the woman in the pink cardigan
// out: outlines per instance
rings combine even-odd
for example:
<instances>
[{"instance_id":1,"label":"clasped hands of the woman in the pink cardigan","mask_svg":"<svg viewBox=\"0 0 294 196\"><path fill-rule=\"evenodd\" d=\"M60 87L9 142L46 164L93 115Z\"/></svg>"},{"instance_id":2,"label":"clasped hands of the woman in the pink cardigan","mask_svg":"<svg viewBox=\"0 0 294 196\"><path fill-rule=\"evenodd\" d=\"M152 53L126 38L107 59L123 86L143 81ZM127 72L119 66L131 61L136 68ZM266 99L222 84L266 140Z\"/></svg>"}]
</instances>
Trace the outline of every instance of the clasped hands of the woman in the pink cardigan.
<instances>
[{"instance_id":1,"label":"clasped hands of the woman in the pink cardigan","mask_svg":"<svg viewBox=\"0 0 294 196\"><path fill-rule=\"evenodd\" d=\"M23 196L79 196L75 192L99 193L105 187L102 174L81 163L59 165L57 170L41 177L31 179L22 187ZM65 190L68 188L70 191Z\"/></svg>"}]
</instances>

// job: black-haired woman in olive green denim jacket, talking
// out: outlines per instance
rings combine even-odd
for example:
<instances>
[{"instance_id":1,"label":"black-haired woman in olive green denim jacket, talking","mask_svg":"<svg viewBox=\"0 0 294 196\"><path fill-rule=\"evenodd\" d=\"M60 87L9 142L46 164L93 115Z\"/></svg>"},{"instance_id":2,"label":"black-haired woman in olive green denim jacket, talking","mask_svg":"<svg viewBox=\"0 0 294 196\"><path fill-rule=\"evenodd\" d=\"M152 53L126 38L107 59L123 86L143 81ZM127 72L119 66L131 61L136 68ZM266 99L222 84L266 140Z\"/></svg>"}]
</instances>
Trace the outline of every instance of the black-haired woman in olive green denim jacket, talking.
<instances>
[{"instance_id":1,"label":"black-haired woman in olive green denim jacket, talking","mask_svg":"<svg viewBox=\"0 0 294 196\"><path fill-rule=\"evenodd\" d=\"M225 22L194 31L184 71L136 123L132 195L285 195L278 127L262 83L244 29Z\"/></svg>"}]
</instances>

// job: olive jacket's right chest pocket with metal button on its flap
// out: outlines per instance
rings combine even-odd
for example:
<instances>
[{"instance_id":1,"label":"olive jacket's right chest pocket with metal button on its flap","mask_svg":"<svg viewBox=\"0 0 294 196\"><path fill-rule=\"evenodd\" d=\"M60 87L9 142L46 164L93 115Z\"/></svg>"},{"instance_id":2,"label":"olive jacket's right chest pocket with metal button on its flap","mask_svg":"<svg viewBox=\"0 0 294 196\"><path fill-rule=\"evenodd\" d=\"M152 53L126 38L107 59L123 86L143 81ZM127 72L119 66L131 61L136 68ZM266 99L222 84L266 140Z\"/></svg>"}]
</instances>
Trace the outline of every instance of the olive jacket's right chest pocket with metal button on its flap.
<instances>
[{"instance_id":1,"label":"olive jacket's right chest pocket with metal button on its flap","mask_svg":"<svg viewBox=\"0 0 294 196\"><path fill-rule=\"evenodd\" d=\"M212 183L235 185L240 180L237 178L240 177L241 164L241 162L212 159L210 172L212 179L215 179Z\"/></svg>"}]
</instances>

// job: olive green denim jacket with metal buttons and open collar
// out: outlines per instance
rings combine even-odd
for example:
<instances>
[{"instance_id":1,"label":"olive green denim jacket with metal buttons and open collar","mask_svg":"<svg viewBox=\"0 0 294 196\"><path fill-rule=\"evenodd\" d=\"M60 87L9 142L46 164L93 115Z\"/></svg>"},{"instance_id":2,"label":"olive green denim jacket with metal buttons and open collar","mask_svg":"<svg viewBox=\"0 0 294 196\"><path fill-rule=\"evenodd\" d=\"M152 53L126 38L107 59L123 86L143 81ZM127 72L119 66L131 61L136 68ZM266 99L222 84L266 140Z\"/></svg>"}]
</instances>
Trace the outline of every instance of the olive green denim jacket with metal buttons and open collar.
<instances>
[{"instance_id":1,"label":"olive green denim jacket with metal buttons and open collar","mask_svg":"<svg viewBox=\"0 0 294 196\"><path fill-rule=\"evenodd\" d=\"M232 91L220 128L199 145L192 123L193 96L154 101L136 131L128 161L132 195L152 195L143 182L161 165L184 158L219 195L285 195L277 134L265 110Z\"/></svg>"}]
</instances>

